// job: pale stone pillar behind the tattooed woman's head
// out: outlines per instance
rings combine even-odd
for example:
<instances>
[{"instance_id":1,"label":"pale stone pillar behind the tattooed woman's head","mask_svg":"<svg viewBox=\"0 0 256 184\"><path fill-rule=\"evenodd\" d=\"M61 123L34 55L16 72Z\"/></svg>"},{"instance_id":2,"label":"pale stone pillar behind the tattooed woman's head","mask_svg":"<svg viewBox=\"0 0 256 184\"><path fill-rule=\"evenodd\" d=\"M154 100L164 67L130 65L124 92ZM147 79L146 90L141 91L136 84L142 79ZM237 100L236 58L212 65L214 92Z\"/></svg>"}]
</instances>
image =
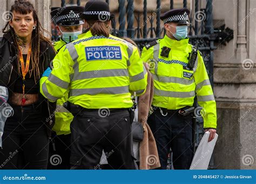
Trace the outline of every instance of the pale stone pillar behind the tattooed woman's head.
<instances>
[{"instance_id":1,"label":"pale stone pillar behind the tattooed woman's head","mask_svg":"<svg viewBox=\"0 0 256 184\"><path fill-rule=\"evenodd\" d=\"M0 12L2 12L2 17L0 18L0 25L1 25L1 31L0 36L3 36L2 29L4 25L6 24L6 12L10 11L11 5L14 4L15 0L3 0L0 3ZM35 9L37 10L39 21L43 28L49 32L51 32L51 15L50 15L50 7L51 7L51 0L30 0L30 2L34 5ZM50 38L48 34L45 34L44 36L47 36Z\"/></svg>"}]
</instances>

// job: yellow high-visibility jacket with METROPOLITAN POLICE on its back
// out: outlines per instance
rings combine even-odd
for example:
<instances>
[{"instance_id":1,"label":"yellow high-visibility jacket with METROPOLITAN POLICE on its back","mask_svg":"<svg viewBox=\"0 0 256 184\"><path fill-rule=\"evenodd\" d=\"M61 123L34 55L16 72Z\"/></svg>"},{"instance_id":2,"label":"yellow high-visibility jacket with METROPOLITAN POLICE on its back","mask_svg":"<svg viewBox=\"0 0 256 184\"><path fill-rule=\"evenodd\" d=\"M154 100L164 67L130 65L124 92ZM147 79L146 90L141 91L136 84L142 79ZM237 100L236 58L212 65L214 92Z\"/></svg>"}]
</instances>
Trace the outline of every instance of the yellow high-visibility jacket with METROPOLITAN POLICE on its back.
<instances>
[{"instance_id":1,"label":"yellow high-visibility jacket with METROPOLITAN POLICE on its back","mask_svg":"<svg viewBox=\"0 0 256 184\"><path fill-rule=\"evenodd\" d=\"M147 72L137 47L91 31L60 49L49 76L40 80L41 93L51 101L69 93L84 108L129 108L131 92L145 92Z\"/></svg>"}]
</instances>

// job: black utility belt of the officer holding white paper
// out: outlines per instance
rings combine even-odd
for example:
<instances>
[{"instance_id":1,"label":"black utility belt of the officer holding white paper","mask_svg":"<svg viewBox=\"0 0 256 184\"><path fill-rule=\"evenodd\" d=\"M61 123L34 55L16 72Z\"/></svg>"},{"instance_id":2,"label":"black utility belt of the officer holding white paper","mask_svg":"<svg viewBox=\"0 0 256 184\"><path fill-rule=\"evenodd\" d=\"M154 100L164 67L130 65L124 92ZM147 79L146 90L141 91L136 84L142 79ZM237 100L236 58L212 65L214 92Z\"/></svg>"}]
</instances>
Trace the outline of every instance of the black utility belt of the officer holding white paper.
<instances>
[{"instance_id":1,"label":"black utility belt of the officer holding white paper","mask_svg":"<svg viewBox=\"0 0 256 184\"><path fill-rule=\"evenodd\" d=\"M166 116L168 114L175 114L178 113L181 117L185 117L187 115L191 115L194 112L194 107L192 106L186 106L183 108L180 108L178 110L168 110L167 108L163 107L154 107L153 109L158 109L161 113L161 115Z\"/></svg>"}]
</instances>

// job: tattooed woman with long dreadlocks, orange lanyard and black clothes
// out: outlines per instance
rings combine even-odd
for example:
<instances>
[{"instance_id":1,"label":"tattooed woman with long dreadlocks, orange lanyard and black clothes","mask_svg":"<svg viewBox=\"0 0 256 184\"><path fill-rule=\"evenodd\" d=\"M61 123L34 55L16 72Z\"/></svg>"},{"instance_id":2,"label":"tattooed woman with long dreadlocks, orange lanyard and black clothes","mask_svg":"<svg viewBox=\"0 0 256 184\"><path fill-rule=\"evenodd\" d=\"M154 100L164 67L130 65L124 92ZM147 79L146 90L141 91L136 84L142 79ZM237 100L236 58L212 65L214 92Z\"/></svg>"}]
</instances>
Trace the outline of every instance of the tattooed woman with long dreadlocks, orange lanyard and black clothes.
<instances>
[{"instance_id":1,"label":"tattooed woman with long dreadlocks, orange lanyard and black clothes","mask_svg":"<svg viewBox=\"0 0 256 184\"><path fill-rule=\"evenodd\" d=\"M46 169L55 104L39 93L39 79L55 50L30 2L15 1L10 15L0 38L0 86L8 88L14 112L4 126L1 168Z\"/></svg>"}]
</instances>

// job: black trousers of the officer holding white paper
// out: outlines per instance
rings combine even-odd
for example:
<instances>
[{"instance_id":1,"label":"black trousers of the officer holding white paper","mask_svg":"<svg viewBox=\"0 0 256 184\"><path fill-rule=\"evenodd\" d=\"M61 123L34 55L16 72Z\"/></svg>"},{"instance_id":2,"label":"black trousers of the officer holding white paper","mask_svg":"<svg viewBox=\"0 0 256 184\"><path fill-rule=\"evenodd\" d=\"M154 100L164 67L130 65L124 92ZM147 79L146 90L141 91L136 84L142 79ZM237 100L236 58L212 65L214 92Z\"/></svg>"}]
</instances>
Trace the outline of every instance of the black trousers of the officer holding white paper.
<instances>
[{"instance_id":1,"label":"black trousers of the officer holding white paper","mask_svg":"<svg viewBox=\"0 0 256 184\"><path fill-rule=\"evenodd\" d=\"M166 169L170 148L174 169L189 169L192 162L191 115L181 117L178 111L172 111L163 116L156 108L147 123L156 139L161 169Z\"/></svg>"}]
</instances>

